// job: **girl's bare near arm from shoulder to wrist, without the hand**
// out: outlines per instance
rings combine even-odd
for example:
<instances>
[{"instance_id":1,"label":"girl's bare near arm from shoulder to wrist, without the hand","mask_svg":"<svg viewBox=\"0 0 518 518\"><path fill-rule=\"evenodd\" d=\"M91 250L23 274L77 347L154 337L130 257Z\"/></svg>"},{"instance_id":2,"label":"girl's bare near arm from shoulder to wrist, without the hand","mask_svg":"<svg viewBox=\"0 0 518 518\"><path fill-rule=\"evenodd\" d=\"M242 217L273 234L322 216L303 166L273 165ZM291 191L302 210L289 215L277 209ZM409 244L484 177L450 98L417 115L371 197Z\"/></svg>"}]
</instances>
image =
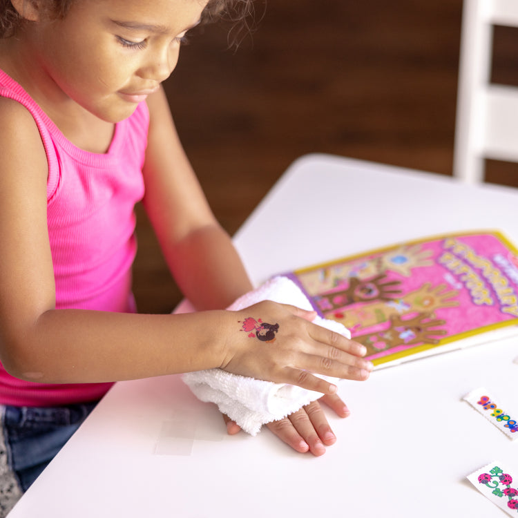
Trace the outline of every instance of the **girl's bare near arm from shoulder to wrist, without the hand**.
<instances>
[{"instance_id":1,"label":"girl's bare near arm from shoulder to wrist, without the hand","mask_svg":"<svg viewBox=\"0 0 518 518\"><path fill-rule=\"evenodd\" d=\"M55 309L46 220L48 165L41 138L28 111L9 99L0 99L0 134L4 367L30 381L68 383L220 365L224 343L213 340L209 329L224 325L222 313L171 318Z\"/></svg>"}]
</instances>

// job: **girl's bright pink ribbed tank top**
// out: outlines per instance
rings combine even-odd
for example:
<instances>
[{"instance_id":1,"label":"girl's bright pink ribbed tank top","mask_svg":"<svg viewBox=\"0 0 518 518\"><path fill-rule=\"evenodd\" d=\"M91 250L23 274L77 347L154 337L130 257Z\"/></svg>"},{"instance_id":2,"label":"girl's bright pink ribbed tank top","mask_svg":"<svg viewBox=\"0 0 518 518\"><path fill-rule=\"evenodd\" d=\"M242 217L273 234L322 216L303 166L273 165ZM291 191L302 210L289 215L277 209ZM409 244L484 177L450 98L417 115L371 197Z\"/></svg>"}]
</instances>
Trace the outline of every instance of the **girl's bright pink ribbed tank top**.
<instances>
[{"instance_id":1,"label":"girl's bright pink ribbed tank top","mask_svg":"<svg viewBox=\"0 0 518 518\"><path fill-rule=\"evenodd\" d=\"M23 88L0 70L0 96L34 117L48 161L47 222L56 307L135 312L131 266L135 203L144 195L146 103L115 125L108 152L77 148ZM21 381L0 365L0 404L51 406L94 401L111 383L48 385Z\"/></svg>"}]
</instances>

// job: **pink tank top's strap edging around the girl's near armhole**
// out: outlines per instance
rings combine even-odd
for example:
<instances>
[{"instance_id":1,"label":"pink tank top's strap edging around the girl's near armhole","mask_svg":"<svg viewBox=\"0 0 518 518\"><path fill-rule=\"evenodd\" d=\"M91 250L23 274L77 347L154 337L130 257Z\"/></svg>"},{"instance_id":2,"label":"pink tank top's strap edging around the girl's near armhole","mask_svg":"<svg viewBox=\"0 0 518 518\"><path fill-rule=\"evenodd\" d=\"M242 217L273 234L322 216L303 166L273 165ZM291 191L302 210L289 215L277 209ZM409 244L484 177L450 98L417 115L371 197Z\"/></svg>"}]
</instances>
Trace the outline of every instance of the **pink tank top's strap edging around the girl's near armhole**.
<instances>
[{"instance_id":1,"label":"pink tank top's strap edging around the girl's near armhole","mask_svg":"<svg viewBox=\"0 0 518 518\"><path fill-rule=\"evenodd\" d=\"M47 156L47 200L50 200L59 183L59 159L54 141L52 140L52 135L48 128L50 119L36 104L36 102L32 100L30 95L28 95L28 93L26 93L26 91L23 90L17 82L3 73L2 70L0 70L0 96L19 102L22 106L27 108L29 113L32 115L32 118L35 120L39 135L41 136L41 142L43 142L45 154ZM52 122L50 122L50 124L52 124Z\"/></svg>"}]
</instances>

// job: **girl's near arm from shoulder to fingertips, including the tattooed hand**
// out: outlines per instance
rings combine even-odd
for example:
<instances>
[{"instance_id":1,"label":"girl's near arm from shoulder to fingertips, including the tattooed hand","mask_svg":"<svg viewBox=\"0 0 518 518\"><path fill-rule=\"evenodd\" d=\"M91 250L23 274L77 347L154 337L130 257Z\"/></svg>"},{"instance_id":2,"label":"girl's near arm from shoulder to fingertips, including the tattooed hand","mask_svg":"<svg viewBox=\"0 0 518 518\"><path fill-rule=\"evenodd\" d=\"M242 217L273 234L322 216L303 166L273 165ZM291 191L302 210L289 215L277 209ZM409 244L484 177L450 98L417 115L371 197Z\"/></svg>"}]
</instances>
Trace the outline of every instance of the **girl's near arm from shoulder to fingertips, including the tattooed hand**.
<instances>
[{"instance_id":1,"label":"girl's near arm from shoulder to fingertips, including the tattooed hand","mask_svg":"<svg viewBox=\"0 0 518 518\"><path fill-rule=\"evenodd\" d=\"M309 372L367 377L360 345L287 306L174 316L55 309L41 138L9 99L0 99L0 135L0 361L13 376L90 383L222 367L327 393L334 388ZM276 347L240 333L247 316L280 323Z\"/></svg>"}]
</instances>

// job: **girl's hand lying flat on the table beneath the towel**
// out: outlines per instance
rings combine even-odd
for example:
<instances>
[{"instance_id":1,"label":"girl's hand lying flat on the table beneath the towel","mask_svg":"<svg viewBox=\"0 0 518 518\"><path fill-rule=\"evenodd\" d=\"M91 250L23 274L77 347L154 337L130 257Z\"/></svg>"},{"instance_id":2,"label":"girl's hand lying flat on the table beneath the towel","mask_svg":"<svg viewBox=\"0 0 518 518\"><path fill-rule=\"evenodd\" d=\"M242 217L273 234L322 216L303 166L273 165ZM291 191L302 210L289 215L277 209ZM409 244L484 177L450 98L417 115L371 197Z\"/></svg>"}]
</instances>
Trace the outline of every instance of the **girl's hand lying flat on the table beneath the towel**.
<instances>
[{"instance_id":1,"label":"girl's hand lying flat on the table beneath the towel","mask_svg":"<svg viewBox=\"0 0 518 518\"><path fill-rule=\"evenodd\" d=\"M267 427L296 452L309 451L316 457L320 457L325 453L326 446L336 442L336 436L327 422L319 401L326 403L340 417L347 417L350 414L347 405L338 396L323 396L285 419L268 423ZM227 423L227 431L230 435L241 430L228 416L224 415L223 419Z\"/></svg>"}]
</instances>

